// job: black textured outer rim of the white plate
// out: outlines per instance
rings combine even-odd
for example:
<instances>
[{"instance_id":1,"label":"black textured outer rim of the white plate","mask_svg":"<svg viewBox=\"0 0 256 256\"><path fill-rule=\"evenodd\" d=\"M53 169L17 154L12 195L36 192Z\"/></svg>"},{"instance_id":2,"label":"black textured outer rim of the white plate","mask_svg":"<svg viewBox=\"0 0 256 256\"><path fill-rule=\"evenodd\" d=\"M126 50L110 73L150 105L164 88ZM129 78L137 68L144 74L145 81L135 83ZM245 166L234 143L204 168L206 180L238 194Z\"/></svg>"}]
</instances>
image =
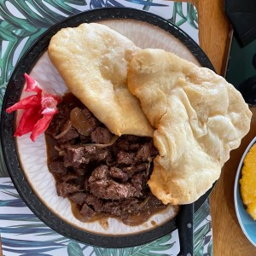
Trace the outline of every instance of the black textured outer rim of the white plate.
<instances>
[{"instance_id":1,"label":"black textured outer rim of the white plate","mask_svg":"<svg viewBox=\"0 0 256 256\"><path fill-rule=\"evenodd\" d=\"M26 50L25 54L15 67L14 72L9 79L5 96L3 98L3 108L1 112L1 145L3 150L3 164L6 166L12 182L15 184L20 197L30 207L32 212L38 216L51 229L79 242L90 244L96 247L135 247L150 241L166 236L172 230L177 229L177 218L172 219L166 224L162 224L153 230L143 233L132 234L128 236L103 236L80 230L72 224L68 224L64 220L58 218L33 192L26 180L25 174L20 167L19 157L16 151L15 137L13 137L15 129L15 113L7 114L6 108L13 105L20 99L20 93L24 85L24 73L29 73L39 57L47 49L50 38L58 32L62 27L78 26L83 22L93 22L99 20L115 20L115 19L131 19L147 22L151 25L158 26L169 32L175 38L179 39L201 63L202 67L208 67L214 71L211 61L203 50L189 37L186 32L173 25L164 18L148 13L143 10L131 8L108 8L108 9L91 9L73 15L54 26L51 26L44 32L32 46ZM197 211L202 203L207 200L211 189L205 195L202 195L198 201L195 201L195 211Z\"/></svg>"}]
</instances>

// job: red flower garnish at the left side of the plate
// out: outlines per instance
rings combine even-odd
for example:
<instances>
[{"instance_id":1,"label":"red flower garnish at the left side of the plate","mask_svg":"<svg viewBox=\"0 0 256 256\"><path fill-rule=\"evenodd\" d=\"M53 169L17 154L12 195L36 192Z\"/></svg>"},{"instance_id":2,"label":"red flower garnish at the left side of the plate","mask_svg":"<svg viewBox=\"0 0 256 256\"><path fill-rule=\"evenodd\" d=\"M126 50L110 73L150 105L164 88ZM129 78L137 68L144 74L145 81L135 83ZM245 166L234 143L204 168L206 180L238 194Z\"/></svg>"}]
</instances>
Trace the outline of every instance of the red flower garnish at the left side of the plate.
<instances>
[{"instance_id":1,"label":"red flower garnish at the left side of the plate","mask_svg":"<svg viewBox=\"0 0 256 256\"><path fill-rule=\"evenodd\" d=\"M55 113L58 113L57 104L61 102L61 96L55 96L43 90L38 82L28 74L24 74L26 79L26 89L28 92L36 92L36 95L27 96L6 109L7 113L12 113L18 109L24 109L20 123L14 136L22 136L31 132L30 138L34 142L36 138L46 131Z\"/></svg>"}]
</instances>

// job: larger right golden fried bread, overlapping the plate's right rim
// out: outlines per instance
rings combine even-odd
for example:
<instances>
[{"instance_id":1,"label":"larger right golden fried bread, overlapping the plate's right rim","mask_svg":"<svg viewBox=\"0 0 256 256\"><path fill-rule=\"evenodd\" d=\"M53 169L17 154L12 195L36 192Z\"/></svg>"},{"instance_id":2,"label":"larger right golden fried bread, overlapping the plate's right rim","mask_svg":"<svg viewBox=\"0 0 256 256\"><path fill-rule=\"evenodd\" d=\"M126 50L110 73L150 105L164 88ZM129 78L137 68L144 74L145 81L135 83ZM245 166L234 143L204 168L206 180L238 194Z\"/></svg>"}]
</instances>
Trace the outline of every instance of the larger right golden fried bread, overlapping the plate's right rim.
<instances>
[{"instance_id":1,"label":"larger right golden fried bread, overlapping the plate's right rim","mask_svg":"<svg viewBox=\"0 0 256 256\"><path fill-rule=\"evenodd\" d=\"M165 204L196 201L210 189L249 131L252 113L225 79L162 49L132 59L128 87L153 125L160 154L148 181Z\"/></svg>"}]
</instances>

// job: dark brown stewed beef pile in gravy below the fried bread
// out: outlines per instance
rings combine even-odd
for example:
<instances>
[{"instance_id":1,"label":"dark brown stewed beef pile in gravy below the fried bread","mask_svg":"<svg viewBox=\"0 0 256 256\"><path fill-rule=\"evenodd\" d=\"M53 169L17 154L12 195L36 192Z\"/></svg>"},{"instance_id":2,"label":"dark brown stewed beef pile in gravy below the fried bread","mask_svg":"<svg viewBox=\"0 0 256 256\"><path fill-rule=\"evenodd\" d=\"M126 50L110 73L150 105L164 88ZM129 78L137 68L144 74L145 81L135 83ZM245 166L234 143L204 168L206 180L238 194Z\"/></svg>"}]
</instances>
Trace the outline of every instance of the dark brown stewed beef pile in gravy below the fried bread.
<instances>
[{"instance_id":1,"label":"dark brown stewed beef pile in gravy below the fried bread","mask_svg":"<svg viewBox=\"0 0 256 256\"><path fill-rule=\"evenodd\" d=\"M57 194L72 201L84 221L105 214L134 224L134 216L143 222L165 208L147 184L158 154L152 138L115 137L78 99L72 99L64 97L46 131L55 142L48 147L55 151L49 154L49 171ZM90 125L85 135L70 121L73 108L79 108Z\"/></svg>"}]
</instances>

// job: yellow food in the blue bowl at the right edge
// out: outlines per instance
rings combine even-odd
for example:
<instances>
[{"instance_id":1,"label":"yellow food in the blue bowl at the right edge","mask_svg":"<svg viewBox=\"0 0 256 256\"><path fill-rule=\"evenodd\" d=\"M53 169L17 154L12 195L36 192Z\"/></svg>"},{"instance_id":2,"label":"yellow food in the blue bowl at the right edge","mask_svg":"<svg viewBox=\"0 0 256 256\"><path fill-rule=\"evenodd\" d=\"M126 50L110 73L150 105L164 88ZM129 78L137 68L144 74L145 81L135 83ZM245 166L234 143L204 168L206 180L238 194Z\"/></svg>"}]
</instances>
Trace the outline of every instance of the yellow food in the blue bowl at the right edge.
<instances>
[{"instance_id":1,"label":"yellow food in the blue bowl at the right edge","mask_svg":"<svg viewBox=\"0 0 256 256\"><path fill-rule=\"evenodd\" d=\"M241 199L256 220L256 144L249 150L241 169Z\"/></svg>"}]
</instances>

